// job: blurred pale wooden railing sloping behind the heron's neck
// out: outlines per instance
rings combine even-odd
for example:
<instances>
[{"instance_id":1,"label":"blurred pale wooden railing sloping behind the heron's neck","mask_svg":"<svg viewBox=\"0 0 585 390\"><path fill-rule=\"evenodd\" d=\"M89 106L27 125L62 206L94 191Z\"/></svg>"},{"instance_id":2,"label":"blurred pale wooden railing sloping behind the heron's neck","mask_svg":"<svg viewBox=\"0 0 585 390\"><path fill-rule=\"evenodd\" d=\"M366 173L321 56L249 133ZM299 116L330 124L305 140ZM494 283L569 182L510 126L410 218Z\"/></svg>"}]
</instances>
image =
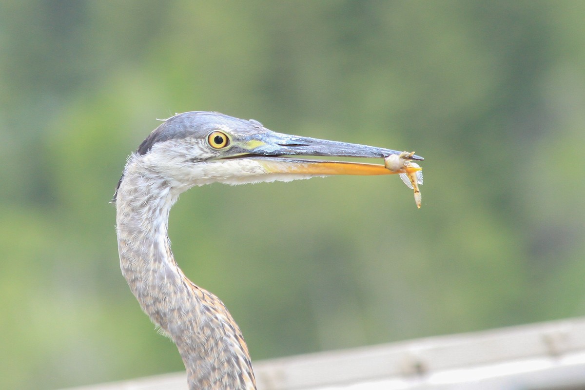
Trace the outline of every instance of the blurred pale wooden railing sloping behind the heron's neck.
<instances>
[{"instance_id":1,"label":"blurred pale wooden railing sloping behind the heron's neck","mask_svg":"<svg viewBox=\"0 0 585 390\"><path fill-rule=\"evenodd\" d=\"M585 389L585 317L254 364L259 390ZM70 390L185 390L184 373Z\"/></svg>"}]
</instances>

